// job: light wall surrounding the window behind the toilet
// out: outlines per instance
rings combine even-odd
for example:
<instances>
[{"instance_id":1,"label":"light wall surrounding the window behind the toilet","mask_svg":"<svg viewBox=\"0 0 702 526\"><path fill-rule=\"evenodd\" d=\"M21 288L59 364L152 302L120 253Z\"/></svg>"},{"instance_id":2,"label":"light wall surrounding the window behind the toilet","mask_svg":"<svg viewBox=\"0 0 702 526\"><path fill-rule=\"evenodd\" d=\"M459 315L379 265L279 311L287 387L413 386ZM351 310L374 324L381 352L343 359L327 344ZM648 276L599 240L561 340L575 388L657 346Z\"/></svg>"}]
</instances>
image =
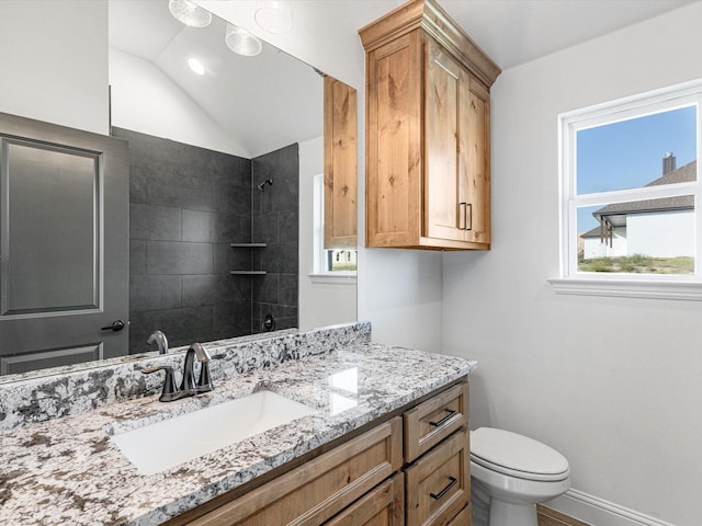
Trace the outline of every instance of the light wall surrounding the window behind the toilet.
<instances>
[{"instance_id":1,"label":"light wall surrounding the window behind the toilet","mask_svg":"<svg viewBox=\"0 0 702 526\"><path fill-rule=\"evenodd\" d=\"M702 517L702 305L556 296L546 279L558 113L702 77L700 26L697 2L502 72L492 250L443 265L444 351L479 364L471 426L541 439L569 459L575 489L677 526Z\"/></svg>"}]
</instances>

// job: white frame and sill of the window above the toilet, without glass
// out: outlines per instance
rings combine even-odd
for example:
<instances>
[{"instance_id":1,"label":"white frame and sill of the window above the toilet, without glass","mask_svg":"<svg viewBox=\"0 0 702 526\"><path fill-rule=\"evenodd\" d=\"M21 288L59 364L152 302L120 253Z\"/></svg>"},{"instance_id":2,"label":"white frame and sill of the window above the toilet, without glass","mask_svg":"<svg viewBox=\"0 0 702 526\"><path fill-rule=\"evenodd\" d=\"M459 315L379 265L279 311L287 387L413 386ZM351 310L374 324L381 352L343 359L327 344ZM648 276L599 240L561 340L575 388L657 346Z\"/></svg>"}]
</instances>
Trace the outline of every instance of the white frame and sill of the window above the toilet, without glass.
<instances>
[{"instance_id":1,"label":"white frame and sill of the window above the toilet, without glass","mask_svg":"<svg viewBox=\"0 0 702 526\"><path fill-rule=\"evenodd\" d=\"M600 193L577 193L577 133L681 107L697 106L697 158L702 142L702 80L686 82L558 115L559 277L557 294L702 300L702 174L697 181ZM663 159L663 158L661 158ZM578 271L577 209L630 201L694 196L694 273L625 274Z\"/></svg>"}]
</instances>

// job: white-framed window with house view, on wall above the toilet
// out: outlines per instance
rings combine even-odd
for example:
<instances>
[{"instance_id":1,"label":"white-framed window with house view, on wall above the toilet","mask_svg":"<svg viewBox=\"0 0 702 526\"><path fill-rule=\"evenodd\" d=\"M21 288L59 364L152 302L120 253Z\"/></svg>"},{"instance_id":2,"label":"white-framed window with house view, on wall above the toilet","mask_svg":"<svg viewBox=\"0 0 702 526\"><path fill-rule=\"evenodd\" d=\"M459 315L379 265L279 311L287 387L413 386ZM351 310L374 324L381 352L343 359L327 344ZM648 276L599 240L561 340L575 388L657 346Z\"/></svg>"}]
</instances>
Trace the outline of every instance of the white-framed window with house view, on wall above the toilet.
<instances>
[{"instance_id":1,"label":"white-framed window with house view, on wall above the toilet","mask_svg":"<svg viewBox=\"0 0 702 526\"><path fill-rule=\"evenodd\" d=\"M561 115L556 291L702 299L701 101L695 82Z\"/></svg>"}]
</instances>

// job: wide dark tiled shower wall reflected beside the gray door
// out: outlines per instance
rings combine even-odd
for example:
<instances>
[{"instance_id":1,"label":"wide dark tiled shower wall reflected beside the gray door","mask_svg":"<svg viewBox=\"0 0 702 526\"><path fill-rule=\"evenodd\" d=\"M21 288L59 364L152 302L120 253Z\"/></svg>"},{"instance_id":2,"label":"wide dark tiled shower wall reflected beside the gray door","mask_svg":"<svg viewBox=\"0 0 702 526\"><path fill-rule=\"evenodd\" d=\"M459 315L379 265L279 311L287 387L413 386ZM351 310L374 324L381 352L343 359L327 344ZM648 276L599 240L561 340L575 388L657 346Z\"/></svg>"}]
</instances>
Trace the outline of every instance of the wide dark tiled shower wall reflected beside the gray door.
<instances>
[{"instance_id":1,"label":"wide dark tiled shower wall reflected beside the gray door","mask_svg":"<svg viewBox=\"0 0 702 526\"><path fill-rule=\"evenodd\" d=\"M129 141L129 352L248 334L251 161L135 132ZM297 203L297 201L295 201Z\"/></svg>"}]
</instances>

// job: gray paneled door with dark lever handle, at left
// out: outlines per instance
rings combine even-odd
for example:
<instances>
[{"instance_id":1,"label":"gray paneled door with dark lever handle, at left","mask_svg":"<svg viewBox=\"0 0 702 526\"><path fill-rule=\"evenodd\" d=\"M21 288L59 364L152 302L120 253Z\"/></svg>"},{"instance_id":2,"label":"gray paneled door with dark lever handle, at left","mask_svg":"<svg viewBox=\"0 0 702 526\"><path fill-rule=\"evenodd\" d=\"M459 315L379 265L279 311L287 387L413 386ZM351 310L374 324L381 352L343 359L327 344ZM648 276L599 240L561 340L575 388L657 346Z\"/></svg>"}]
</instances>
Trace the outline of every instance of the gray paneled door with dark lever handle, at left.
<instances>
[{"instance_id":1,"label":"gray paneled door with dark lever handle, at left","mask_svg":"<svg viewBox=\"0 0 702 526\"><path fill-rule=\"evenodd\" d=\"M127 354L127 152L0 113L0 375Z\"/></svg>"}]
</instances>

